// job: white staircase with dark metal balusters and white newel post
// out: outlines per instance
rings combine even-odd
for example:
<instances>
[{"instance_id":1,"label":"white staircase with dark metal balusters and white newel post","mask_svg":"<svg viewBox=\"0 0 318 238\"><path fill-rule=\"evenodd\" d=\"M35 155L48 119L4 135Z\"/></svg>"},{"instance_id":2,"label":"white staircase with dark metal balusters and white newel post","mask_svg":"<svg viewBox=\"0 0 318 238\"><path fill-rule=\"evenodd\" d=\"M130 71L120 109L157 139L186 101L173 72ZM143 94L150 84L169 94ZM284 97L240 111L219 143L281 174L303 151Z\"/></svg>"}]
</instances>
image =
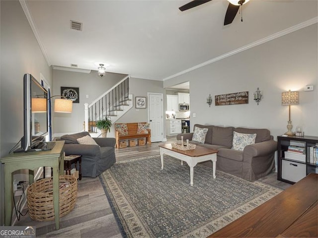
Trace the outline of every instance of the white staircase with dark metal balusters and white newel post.
<instances>
[{"instance_id":1,"label":"white staircase with dark metal balusters and white newel post","mask_svg":"<svg viewBox=\"0 0 318 238\"><path fill-rule=\"evenodd\" d=\"M133 95L129 94L129 79L127 75L91 104L84 104L84 130L88 131L92 137L101 135L100 130L95 127L96 121L107 117L114 124L133 107Z\"/></svg>"}]
</instances>

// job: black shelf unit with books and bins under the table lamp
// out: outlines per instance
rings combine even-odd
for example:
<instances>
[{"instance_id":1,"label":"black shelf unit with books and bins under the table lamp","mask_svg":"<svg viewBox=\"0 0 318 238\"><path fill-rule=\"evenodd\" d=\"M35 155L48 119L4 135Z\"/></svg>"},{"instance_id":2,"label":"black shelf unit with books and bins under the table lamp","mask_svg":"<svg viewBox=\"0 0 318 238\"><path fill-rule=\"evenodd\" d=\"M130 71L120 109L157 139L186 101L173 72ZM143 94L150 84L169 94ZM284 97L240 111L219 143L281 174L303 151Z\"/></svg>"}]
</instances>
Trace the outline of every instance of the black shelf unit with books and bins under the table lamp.
<instances>
[{"instance_id":1,"label":"black shelf unit with books and bins under the table lamp","mask_svg":"<svg viewBox=\"0 0 318 238\"><path fill-rule=\"evenodd\" d=\"M293 177L299 177L299 173L302 174L302 178L310 173L318 173L318 164L310 163L310 153L309 147L316 146L318 143L317 136L277 136L277 179L283 182L288 182L294 184L298 179L293 179ZM291 141L301 142L306 148L306 161L298 161L293 159L285 158L285 151L288 150L288 146ZM289 175L282 176L282 171L288 171L288 169L283 168L286 165L292 165L292 171L287 172ZM294 166L294 169L293 169ZM293 175L294 173L294 175ZM292 180L289 180L292 179Z\"/></svg>"}]
</instances>

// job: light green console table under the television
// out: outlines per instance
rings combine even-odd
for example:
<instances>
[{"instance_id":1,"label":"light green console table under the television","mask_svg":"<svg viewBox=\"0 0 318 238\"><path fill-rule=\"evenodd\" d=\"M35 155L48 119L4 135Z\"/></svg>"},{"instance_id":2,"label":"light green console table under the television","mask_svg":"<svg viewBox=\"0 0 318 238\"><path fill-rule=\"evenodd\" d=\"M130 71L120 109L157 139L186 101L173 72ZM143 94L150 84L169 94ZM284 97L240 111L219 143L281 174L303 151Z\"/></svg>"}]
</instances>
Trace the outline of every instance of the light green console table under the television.
<instances>
[{"instance_id":1,"label":"light green console table under the television","mask_svg":"<svg viewBox=\"0 0 318 238\"><path fill-rule=\"evenodd\" d=\"M50 143L50 142L48 142ZM29 182L33 182L34 170L39 167L52 167L53 170L53 203L55 215L55 228L60 229L59 206L59 175L64 174L64 141L56 141L52 150L27 153L11 153L1 158L4 171L4 225L11 226L13 176L14 171L20 169L29 170Z\"/></svg>"}]
</instances>

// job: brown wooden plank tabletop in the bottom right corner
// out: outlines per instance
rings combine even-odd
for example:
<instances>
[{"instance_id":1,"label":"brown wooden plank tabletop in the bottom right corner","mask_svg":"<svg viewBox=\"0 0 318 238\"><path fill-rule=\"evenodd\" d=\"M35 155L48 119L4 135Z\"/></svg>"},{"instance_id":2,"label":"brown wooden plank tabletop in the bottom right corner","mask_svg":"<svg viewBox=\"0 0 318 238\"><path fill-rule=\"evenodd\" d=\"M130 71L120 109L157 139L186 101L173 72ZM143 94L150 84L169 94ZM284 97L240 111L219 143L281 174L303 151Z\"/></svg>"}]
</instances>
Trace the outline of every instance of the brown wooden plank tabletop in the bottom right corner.
<instances>
[{"instance_id":1,"label":"brown wooden plank tabletop in the bottom right corner","mask_svg":"<svg viewBox=\"0 0 318 238\"><path fill-rule=\"evenodd\" d=\"M318 174L310 174L212 237L318 237Z\"/></svg>"}]
</instances>

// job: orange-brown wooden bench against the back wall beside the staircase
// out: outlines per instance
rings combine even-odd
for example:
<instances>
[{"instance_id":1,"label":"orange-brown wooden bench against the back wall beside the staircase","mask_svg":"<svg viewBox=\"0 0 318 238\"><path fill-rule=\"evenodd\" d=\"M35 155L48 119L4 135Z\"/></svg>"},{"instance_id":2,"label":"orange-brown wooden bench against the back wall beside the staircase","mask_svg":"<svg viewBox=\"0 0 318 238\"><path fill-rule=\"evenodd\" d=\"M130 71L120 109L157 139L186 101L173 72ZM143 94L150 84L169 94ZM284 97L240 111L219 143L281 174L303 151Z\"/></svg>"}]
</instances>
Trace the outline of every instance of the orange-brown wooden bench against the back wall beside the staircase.
<instances>
[{"instance_id":1,"label":"orange-brown wooden bench against the back wall beside the staircase","mask_svg":"<svg viewBox=\"0 0 318 238\"><path fill-rule=\"evenodd\" d=\"M148 134L137 134L138 129L138 123L147 123L147 122L132 122L132 123L126 123L127 129L128 129L128 135L121 135L119 131L115 131L115 137L116 137L116 147L117 149L120 148L120 140L128 140L128 139L138 139L138 138L146 138L146 144L148 143L151 145L151 129L148 129ZM122 123L115 123L115 129L116 124L122 124Z\"/></svg>"}]
</instances>

